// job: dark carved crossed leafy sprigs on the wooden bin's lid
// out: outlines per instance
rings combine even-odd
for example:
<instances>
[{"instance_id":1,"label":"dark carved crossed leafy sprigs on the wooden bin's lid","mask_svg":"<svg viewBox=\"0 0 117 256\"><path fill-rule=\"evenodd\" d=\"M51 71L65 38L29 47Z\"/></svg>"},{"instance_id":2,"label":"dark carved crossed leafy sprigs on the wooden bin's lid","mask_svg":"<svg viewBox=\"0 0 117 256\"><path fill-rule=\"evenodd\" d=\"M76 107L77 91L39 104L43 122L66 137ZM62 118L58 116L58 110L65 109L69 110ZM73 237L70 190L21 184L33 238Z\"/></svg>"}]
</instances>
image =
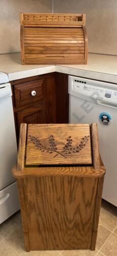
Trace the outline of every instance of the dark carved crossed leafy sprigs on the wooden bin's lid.
<instances>
[{"instance_id":1,"label":"dark carved crossed leafy sprigs on the wooden bin's lid","mask_svg":"<svg viewBox=\"0 0 117 256\"><path fill-rule=\"evenodd\" d=\"M81 151L82 148L86 145L86 142L89 140L89 136L84 136L83 138L81 138L81 141L78 145L72 146L72 138L71 138L71 136L69 136L62 151L58 152L53 135L49 136L49 146L48 147L43 145L36 137L34 137L32 135L30 135L29 137L30 137L30 141L33 142L35 144L35 146L41 152L47 152L50 154L52 154L54 152L54 153L56 153L54 155L54 157L56 157L57 155L61 155L64 158L67 158L67 155L78 153L79 151Z\"/></svg>"}]
</instances>

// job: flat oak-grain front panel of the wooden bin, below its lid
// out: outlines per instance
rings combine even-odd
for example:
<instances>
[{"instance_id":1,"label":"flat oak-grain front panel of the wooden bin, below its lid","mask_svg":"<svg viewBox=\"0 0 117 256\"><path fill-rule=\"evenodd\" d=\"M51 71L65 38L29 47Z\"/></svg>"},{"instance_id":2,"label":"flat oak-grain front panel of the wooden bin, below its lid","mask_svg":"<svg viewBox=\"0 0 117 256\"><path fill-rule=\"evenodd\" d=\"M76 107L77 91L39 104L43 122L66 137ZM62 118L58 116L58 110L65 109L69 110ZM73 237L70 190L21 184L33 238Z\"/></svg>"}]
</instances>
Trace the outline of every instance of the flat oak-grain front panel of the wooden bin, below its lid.
<instances>
[{"instance_id":1,"label":"flat oak-grain front panel of the wooden bin, below its lid","mask_svg":"<svg viewBox=\"0 0 117 256\"><path fill-rule=\"evenodd\" d=\"M23 180L31 250L91 247L97 183L57 176Z\"/></svg>"}]
</instances>

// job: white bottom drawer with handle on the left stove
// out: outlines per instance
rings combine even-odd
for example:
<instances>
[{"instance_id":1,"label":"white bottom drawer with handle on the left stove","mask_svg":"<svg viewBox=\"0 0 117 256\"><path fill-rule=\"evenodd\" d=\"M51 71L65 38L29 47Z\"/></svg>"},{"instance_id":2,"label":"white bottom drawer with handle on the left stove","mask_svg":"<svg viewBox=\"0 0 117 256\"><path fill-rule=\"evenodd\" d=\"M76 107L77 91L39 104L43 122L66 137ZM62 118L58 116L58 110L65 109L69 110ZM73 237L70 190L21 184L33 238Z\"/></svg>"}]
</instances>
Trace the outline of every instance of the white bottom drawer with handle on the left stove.
<instances>
[{"instance_id":1,"label":"white bottom drawer with handle on the left stove","mask_svg":"<svg viewBox=\"0 0 117 256\"><path fill-rule=\"evenodd\" d=\"M0 224L19 210L17 182L0 191Z\"/></svg>"}]
</instances>

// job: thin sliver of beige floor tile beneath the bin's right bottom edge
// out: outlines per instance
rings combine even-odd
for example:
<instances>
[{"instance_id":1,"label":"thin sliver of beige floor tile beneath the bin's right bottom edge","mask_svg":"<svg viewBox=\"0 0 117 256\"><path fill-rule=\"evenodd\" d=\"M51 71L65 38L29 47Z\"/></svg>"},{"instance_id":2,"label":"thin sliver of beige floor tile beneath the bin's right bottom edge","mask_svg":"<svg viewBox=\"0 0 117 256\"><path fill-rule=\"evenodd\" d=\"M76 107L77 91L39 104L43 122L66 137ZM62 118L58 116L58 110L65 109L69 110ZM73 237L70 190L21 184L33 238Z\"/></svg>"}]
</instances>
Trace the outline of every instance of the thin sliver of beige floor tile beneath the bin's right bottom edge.
<instances>
[{"instance_id":1,"label":"thin sliver of beige floor tile beneath the bin's right bottom edge","mask_svg":"<svg viewBox=\"0 0 117 256\"><path fill-rule=\"evenodd\" d=\"M94 256L96 255L98 250L66 250L62 251L62 256Z\"/></svg>"}]
</instances>

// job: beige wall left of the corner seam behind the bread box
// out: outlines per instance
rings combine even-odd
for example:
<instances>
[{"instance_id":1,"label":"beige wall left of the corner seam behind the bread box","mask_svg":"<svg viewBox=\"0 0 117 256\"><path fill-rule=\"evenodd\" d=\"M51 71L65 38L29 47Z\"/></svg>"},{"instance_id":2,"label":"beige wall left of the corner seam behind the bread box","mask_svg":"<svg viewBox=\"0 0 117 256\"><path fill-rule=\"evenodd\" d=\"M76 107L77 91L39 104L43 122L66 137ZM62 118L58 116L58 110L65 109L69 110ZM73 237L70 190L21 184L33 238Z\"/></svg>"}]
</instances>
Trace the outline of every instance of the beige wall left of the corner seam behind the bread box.
<instances>
[{"instance_id":1,"label":"beige wall left of the corner seam behind the bread box","mask_svg":"<svg viewBox=\"0 0 117 256\"><path fill-rule=\"evenodd\" d=\"M0 0L0 53L20 51L19 12L52 12L52 0Z\"/></svg>"}]
</instances>

